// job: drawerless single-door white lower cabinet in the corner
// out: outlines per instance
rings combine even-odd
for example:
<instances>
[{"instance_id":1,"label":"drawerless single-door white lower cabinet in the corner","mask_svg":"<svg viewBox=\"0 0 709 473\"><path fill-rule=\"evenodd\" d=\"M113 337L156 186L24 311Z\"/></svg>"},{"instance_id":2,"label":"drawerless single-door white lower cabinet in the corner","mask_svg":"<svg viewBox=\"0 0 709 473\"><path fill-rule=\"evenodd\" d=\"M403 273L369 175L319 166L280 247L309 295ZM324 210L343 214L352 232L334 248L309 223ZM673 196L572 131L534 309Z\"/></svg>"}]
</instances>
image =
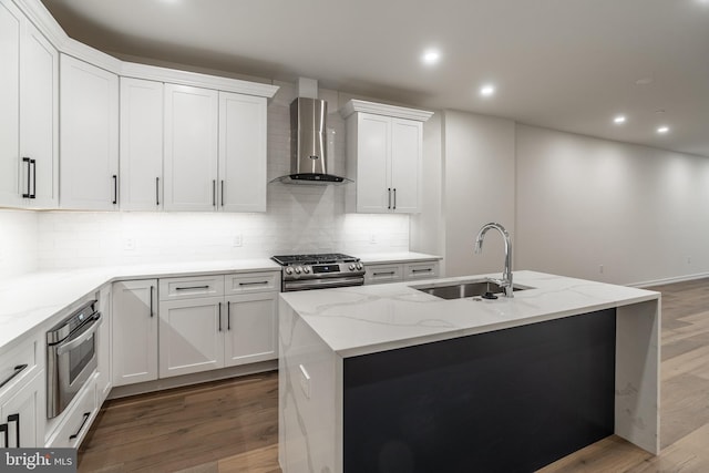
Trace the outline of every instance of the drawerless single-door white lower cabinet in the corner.
<instances>
[{"instance_id":1,"label":"drawerless single-door white lower cabinet in the corner","mask_svg":"<svg viewBox=\"0 0 709 473\"><path fill-rule=\"evenodd\" d=\"M157 379L156 291L157 279L113 284L113 385Z\"/></svg>"}]
</instances>

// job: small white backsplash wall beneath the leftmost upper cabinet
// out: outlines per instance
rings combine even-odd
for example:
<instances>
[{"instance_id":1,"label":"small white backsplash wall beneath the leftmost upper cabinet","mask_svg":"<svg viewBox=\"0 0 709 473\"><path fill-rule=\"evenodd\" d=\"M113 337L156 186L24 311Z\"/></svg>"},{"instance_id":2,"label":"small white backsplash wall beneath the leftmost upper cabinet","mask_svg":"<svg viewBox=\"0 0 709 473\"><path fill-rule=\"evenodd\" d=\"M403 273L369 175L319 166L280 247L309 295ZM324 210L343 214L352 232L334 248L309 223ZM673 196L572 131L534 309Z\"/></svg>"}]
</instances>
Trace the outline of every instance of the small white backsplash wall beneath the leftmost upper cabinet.
<instances>
[{"instance_id":1,"label":"small white backsplash wall beneath the leftmost upper cabinet","mask_svg":"<svg viewBox=\"0 0 709 473\"><path fill-rule=\"evenodd\" d=\"M0 278L37 269L38 214L0 209Z\"/></svg>"}]
</instances>

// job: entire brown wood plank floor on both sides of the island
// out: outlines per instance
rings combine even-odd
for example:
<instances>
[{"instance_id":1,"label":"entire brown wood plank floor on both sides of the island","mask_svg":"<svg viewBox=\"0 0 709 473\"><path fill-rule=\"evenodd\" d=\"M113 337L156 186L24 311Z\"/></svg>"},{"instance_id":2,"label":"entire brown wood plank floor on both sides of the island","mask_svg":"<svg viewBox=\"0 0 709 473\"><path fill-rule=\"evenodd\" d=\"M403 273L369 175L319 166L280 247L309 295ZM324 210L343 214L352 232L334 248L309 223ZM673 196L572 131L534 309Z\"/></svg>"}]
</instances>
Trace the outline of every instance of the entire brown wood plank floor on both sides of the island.
<instances>
[{"instance_id":1,"label":"entire brown wood plank floor on both sides of the island","mask_svg":"<svg viewBox=\"0 0 709 473\"><path fill-rule=\"evenodd\" d=\"M660 455L610 436L541 472L709 472L709 279L653 289L662 292ZM109 401L79 471L280 472L277 391L271 372Z\"/></svg>"}]
</instances>

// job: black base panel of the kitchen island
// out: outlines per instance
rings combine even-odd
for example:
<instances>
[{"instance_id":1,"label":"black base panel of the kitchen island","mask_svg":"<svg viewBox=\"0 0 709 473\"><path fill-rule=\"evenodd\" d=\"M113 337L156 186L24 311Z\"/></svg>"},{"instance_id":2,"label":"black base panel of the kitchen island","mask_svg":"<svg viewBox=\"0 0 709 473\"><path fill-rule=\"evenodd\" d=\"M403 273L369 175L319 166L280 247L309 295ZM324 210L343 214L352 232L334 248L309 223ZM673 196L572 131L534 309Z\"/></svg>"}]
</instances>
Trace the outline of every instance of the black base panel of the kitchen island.
<instances>
[{"instance_id":1,"label":"black base panel of the kitchen island","mask_svg":"<svg viewBox=\"0 0 709 473\"><path fill-rule=\"evenodd\" d=\"M346 473L533 472L614 432L608 309L345 359Z\"/></svg>"}]
</instances>

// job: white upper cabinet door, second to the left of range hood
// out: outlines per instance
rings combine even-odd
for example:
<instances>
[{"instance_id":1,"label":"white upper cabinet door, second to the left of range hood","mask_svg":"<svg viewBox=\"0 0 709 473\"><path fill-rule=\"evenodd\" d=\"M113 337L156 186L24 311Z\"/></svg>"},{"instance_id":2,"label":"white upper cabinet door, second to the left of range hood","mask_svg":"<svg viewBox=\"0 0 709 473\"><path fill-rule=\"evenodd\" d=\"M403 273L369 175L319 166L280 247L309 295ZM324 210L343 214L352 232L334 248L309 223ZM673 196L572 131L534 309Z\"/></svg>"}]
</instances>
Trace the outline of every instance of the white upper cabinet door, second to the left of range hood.
<instances>
[{"instance_id":1,"label":"white upper cabinet door, second to the left of range hood","mask_svg":"<svg viewBox=\"0 0 709 473\"><path fill-rule=\"evenodd\" d=\"M166 210L217 208L218 92L165 84Z\"/></svg>"}]
</instances>

